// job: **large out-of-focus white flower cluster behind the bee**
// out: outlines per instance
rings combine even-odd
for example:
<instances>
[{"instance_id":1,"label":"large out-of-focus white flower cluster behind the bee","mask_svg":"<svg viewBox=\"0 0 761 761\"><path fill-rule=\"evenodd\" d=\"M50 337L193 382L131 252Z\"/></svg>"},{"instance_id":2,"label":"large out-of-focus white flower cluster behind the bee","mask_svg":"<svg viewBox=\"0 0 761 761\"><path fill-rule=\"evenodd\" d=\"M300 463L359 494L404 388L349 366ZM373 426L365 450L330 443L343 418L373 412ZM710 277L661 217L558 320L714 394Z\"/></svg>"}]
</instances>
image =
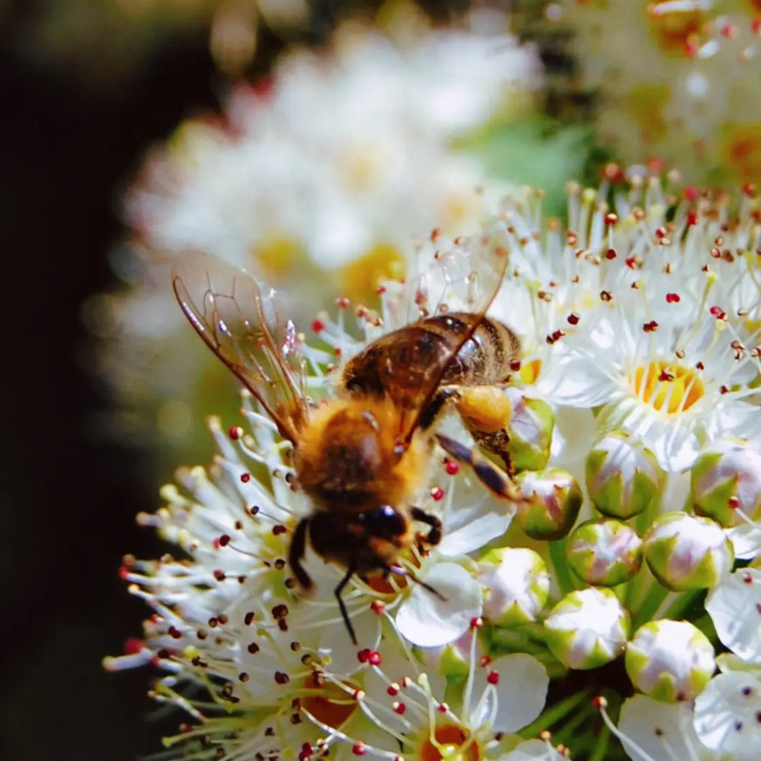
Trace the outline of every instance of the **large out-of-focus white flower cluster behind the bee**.
<instances>
[{"instance_id":1,"label":"large out-of-focus white flower cluster behind the bee","mask_svg":"<svg viewBox=\"0 0 761 761\"><path fill-rule=\"evenodd\" d=\"M488 33L421 28L415 40L345 24L329 53L289 49L223 113L151 151L124 199L132 240L114 254L129 288L85 310L124 434L180 447L193 416L218 409L198 398L219 389L199 383L210 357L177 341L186 327L167 270L184 251L283 285L304 321L331 294L369 298L379 279L403 277L414 235L478 229L505 185L490 191L486 167L454 142L526 110L540 76L533 49L491 21Z\"/></svg>"}]
</instances>

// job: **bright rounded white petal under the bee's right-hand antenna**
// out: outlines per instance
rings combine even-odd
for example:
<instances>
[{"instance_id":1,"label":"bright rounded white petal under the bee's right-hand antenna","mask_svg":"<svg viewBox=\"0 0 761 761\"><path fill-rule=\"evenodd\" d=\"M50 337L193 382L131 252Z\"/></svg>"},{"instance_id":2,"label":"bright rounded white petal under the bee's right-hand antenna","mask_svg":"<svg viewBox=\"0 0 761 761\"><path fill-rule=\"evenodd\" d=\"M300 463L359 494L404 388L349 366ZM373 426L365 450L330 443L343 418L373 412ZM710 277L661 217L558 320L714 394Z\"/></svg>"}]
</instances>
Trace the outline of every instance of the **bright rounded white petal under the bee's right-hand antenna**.
<instances>
[{"instance_id":1,"label":"bright rounded white petal under the bee's right-hand antenna","mask_svg":"<svg viewBox=\"0 0 761 761\"><path fill-rule=\"evenodd\" d=\"M396 613L396 626L412 645L435 648L454 642L481 614L481 585L455 563L438 563L425 583L441 594L431 594L419 584Z\"/></svg>"}]
</instances>

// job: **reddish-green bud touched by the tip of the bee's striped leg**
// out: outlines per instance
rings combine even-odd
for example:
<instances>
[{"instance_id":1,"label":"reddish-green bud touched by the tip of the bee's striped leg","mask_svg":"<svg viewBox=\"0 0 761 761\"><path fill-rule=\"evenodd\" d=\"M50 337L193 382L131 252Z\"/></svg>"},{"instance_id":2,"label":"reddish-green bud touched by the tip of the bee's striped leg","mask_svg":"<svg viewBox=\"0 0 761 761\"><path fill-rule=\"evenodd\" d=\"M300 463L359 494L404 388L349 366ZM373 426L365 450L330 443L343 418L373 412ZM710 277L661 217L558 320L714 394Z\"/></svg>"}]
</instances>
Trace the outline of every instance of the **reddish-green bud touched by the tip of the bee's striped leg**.
<instances>
[{"instance_id":1,"label":"reddish-green bud touched by the tip of the bee's striped leg","mask_svg":"<svg viewBox=\"0 0 761 761\"><path fill-rule=\"evenodd\" d=\"M516 519L532 539L562 539L576 522L584 496L567 470L525 470L515 482L528 499L517 506Z\"/></svg>"}]
</instances>

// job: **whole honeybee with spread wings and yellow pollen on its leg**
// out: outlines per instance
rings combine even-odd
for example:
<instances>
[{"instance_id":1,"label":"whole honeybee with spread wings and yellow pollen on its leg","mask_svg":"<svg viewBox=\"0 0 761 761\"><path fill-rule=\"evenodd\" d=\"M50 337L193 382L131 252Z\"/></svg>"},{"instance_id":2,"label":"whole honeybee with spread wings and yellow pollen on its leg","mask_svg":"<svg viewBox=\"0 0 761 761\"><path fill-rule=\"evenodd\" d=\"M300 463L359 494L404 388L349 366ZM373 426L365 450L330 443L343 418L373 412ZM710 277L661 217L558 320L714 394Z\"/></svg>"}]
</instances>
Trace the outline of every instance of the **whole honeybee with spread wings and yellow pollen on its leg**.
<instances>
[{"instance_id":1,"label":"whole honeybee with spread wings and yellow pollen on its leg","mask_svg":"<svg viewBox=\"0 0 761 761\"><path fill-rule=\"evenodd\" d=\"M415 543L441 541L441 520L412 504L437 443L498 498L521 499L508 473L476 449L436 432L438 420L454 406L476 441L500 450L497 432L509 412L498 384L514 371L520 343L507 326L486 317L486 310L507 266L508 255L498 246L479 256L441 256L409 285L416 313L409 324L349 359L333 398L320 404L307 394L299 336L291 321L279 318L274 291L201 254L183 260L183 269L174 273L174 293L193 328L293 445L295 488L310 499L312 511L295 527L288 563L304 590L313 584L302 565L307 540L326 562L345 569L335 595L355 644L342 600L353 575L363 581L376 574L406 575L438 594L399 559ZM468 310L449 312L447 294ZM427 531L416 532L416 522Z\"/></svg>"}]
</instances>

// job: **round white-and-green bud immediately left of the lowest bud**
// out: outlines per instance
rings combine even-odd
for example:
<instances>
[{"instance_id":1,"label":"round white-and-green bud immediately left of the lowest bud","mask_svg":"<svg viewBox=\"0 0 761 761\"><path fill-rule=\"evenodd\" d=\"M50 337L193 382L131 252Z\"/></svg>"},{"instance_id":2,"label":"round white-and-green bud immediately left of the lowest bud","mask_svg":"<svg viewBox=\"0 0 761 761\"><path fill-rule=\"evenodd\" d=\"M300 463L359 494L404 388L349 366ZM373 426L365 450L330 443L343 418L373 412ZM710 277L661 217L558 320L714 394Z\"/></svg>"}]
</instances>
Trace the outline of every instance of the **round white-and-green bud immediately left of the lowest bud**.
<instances>
[{"instance_id":1,"label":"round white-and-green bud immediately left of the lowest bud","mask_svg":"<svg viewBox=\"0 0 761 761\"><path fill-rule=\"evenodd\" d=\"M569 668L610 663L626 647L629 613L610 589L589 587L566 594L544 622L547 646Z\"/></svg>"}]
</instances>

